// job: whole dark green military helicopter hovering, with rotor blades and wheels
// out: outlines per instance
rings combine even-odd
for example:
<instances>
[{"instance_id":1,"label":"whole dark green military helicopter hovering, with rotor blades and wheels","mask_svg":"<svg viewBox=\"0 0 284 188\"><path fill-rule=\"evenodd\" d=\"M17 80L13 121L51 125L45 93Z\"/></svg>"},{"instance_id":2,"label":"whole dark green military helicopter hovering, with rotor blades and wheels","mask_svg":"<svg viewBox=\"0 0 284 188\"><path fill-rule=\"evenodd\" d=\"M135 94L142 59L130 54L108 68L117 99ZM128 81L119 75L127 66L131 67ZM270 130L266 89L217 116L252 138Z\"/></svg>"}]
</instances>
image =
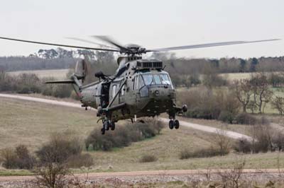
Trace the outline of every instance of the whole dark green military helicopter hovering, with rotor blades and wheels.
<instances>
[{"instance_id":1,"label":"whole dark green military helicopter hovering, with rotor blades and wheels","mask_svg":"<svg viewBox=\"0 0 284 188\"><path fill-rule=\"evenodd\" d=\"M170 129L179 129L180 122L176 119L176 116L187 112L187 105L182 105L181 107L177 105L175 88L173 87L170 75L164 70L165 66L163 66L163 61L158 59L143 59L143 54L148 52L167 52L180 49L196 49L279 40L231 41L146 49L139 45L121 45L119 42L107 36L93 37L107 42L108 45L102 45L97 42L79 38L70 39L100 45L100 47L62 45L9 37L0 37L0 39L40 45L119 52L121 54L117 59L119 68L116 69L116 72L111 76L105 75L102 71L95 73L94 76L99 78L99 81L84 85L84 80L88 72L87 61L86 59L82 59L77 61L75 73L70 76L69 80L46 82L72 84L75 93L77 93L77 96L82 102L82 107L85 107L86 110L87 107L97 109L97 117L99 117L99 120L102 120L102 134L105 134L109 129L114 130L116 122L121 119L131 119L131 122L136 122L139 117L155 117L162 113L168 114L168 127Z\"/></svg>"}]
</instances>

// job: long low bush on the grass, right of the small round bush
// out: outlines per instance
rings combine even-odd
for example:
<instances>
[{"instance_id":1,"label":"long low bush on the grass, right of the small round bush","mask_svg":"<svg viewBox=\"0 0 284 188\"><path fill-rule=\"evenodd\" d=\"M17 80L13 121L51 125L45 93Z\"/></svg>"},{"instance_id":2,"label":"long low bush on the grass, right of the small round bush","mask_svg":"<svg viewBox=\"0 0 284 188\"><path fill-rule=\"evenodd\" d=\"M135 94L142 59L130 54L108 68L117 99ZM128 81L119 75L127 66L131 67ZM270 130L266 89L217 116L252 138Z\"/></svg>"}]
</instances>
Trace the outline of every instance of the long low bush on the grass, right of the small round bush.
<instances>
[{"instance_id":1,"label":"long low bush on the grass, right of the small round bush","mask_svg":"<svg viewBox=\"0 0 284 188\"><path fill-rule=\"evenodd\" d=\"M228 154L228 153L225 153ZM209 158L214 156L222 155L217 148L202 148L196 151L190 151L189 149L184 149L180 151L180 159L187 158Z\"/></svg>"}]
</instances>

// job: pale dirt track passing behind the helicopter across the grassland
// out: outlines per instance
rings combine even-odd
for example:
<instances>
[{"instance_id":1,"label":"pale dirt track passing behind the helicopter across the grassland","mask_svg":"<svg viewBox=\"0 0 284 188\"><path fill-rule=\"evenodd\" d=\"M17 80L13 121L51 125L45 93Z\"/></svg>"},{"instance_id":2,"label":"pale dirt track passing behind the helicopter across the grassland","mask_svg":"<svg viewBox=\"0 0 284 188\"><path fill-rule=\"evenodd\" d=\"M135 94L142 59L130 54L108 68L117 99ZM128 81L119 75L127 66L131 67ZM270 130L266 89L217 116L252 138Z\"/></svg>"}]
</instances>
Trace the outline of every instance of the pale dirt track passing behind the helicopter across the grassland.
<instances>
[{"instance_id":1,"label":"pale dirt track passing behind the helicopter across the grassland","mask_svg":"<svg viewBox=\"0 0 284 188\"><path fill-rule=\"evenodd\" d=\"M61 105L65 107L81 107L80 104L76 104L74 102L62 102L58 100L48 100L48 99L43 99L43 98L31 98L31 97L26 97L26 96L21 96L21 95L9 95L9 94L0 94L0 97L2 98L14 98L14 99L19 99L19 100L30 100L34 102L44 102L50 105ZM168 119L161 117L160 120L162 120L165 123L168 123ZM193 124L190 122L185 122L185 121L180 121L180 125L184 127L189 127L192 129L197 129L200 131L207 131L209 133L216 133L217 131L220 131L220 129L214 128L214 127L209 127L209 126L204 126L201 124ZM229 136L232 139L241 139L241 138L246 138L247 140L251 140L250 136L247 136L245 134L239 134L234 131L224 131L227 136Z\"/></svg>"}]
</instances>

